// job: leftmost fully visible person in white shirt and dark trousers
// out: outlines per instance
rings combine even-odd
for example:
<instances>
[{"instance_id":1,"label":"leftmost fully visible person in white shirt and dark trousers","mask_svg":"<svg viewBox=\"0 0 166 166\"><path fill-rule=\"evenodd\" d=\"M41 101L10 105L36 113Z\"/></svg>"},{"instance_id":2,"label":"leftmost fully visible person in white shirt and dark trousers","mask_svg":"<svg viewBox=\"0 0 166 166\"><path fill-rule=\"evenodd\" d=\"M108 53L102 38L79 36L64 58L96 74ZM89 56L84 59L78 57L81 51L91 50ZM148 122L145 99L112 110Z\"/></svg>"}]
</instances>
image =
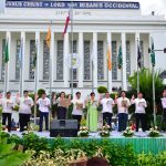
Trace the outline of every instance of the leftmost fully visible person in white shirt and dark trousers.
<instances>
[{"instance_id":1,"label":"leftmost fully visible person in white shirt and dark trousers","mask_svg":"<svg viewBox=\"0 0 166 166\"><path fill-rule=\"evenodd\" d=\"M2 105L2 125L6 126L8 118L8 132L11 131L11 115L14 106L14 102L11 100L11 93L7 92L6 98L1 98Z\"/></svg>"}]
</instances>

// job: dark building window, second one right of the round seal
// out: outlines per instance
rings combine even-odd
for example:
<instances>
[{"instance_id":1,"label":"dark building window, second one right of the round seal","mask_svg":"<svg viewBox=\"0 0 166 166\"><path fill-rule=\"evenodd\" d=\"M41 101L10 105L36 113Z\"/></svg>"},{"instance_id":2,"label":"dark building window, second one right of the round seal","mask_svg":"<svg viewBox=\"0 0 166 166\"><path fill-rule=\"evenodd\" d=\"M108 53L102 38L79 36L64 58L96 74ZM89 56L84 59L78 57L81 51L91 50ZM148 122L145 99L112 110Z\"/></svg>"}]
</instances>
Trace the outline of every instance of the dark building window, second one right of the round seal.
<instances>
[{"instance_id":1,"label":"dark building window, second one right of the round seal","mask_svg":"<svg viewBox=\"0 0 166 166\"><path fill-rule=\"evenodd\" d=\"M97 80L104 80L103 41L97 41Z\"/></svg>"}]
</instances>

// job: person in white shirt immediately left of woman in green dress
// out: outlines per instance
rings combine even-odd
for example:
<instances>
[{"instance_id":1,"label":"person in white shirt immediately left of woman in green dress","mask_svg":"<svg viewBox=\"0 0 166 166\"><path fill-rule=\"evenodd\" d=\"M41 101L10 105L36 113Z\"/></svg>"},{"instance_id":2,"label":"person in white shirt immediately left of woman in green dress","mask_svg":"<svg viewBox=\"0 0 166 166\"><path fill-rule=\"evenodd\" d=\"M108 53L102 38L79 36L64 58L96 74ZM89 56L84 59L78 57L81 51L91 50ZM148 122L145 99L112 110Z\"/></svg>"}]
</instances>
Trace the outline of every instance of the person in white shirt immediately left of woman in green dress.
<instances>
[{"instance_id":1,"label":"person in white shirt immediately left of woman in green dress","mask_svg":"<svg viewBox=\"0 0 166 166\"><path fill-rule=\"evenodd\" d=\"M72 117L73 120L77 120L77 131L79 131L84 106L84 101L81 98L81 92L76 92L75 97L71 102L73 103Z\"/></svg>"}]
</instances>

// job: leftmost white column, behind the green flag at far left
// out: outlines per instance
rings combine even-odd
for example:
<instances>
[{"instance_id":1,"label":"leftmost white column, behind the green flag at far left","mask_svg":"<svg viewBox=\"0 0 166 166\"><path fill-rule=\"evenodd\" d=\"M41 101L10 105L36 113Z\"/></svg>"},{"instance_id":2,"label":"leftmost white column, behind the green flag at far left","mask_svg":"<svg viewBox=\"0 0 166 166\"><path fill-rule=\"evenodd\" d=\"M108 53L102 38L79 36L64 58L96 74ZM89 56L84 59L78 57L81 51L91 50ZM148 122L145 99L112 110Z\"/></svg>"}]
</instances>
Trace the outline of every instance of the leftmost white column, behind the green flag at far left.
<instances>
[{"instance_id":1,"label":"leftmost white column, behind the green flag at far left","mask_svg":"<svg viewBox=\"0 0 166 166\"><path fill-rule=\"evenodd\" d=\"M8 92L9 91L9 66L10 66L10 54L11 54L11 32L8 31L7 34L6 34L6 42L8 42L8 52L9 52L9 62L6 63L6 74L4 74L4 91ZM12 70L12 69L10 69Z\"/></svg>"}]
</instances>

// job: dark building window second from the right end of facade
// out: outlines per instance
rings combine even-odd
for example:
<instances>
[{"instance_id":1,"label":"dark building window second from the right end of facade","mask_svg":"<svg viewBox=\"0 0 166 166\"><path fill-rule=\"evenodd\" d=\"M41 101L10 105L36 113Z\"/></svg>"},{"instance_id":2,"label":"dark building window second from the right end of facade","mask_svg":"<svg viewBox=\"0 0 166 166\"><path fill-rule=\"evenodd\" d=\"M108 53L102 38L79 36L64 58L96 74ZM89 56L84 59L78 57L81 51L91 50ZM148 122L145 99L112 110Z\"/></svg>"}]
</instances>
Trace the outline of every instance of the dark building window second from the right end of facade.
<instances>
[{"instance_id":1,"label":"dark building window second from the right end of facade","mask_svg":"<svg viewBox=\"0 0 166 166\"><path fill-rule=\"evenodd\" d=\"M131 43L126 41L126 74L131 75Z\"/></svg>"}]
</instances>

